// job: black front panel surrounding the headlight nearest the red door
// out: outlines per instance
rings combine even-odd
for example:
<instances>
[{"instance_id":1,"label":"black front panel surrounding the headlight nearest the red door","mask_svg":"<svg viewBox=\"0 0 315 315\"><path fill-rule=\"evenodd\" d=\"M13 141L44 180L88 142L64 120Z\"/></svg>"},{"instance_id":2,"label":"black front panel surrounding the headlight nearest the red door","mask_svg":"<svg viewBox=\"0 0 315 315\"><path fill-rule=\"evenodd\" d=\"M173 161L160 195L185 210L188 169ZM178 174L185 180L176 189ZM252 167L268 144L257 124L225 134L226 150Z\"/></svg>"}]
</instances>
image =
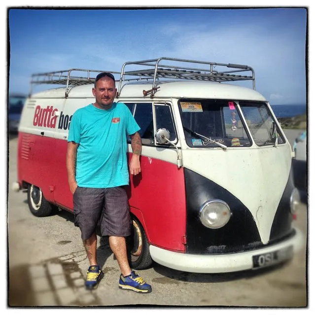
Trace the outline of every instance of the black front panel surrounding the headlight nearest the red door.
<instances>
[{"instance_id":1,"label":"black front panel surrounding the headlight nearest the red door","mask_svg":"<svg viewBox=\"0 0 315 315\"><path fill-rule=\"evenodd\" d=\"M210 179L184 170L187 198L187 253L233 253L263 246L253 216L243 203ZM232 212L222 228L205 227L198 215L200 207L210 199L226 202Z\"/></svg>"}]
</instances>

